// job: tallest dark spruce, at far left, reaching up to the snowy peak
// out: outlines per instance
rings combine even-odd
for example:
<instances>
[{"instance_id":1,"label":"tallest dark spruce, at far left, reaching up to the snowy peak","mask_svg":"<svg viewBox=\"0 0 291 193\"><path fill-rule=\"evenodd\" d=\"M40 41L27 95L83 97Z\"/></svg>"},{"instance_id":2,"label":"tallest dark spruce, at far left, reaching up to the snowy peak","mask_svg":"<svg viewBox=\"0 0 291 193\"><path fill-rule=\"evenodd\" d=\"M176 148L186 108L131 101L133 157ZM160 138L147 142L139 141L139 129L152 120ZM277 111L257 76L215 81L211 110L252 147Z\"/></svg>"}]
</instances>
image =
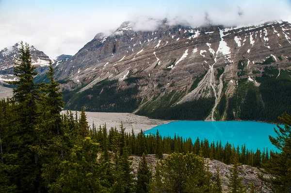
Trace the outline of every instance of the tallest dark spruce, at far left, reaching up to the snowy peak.
<instances>
[{"instance_id":1,"label":"tallest dark spruce, at far left, reaching up to the snowy peak","mask_svg":"<svg viewBox=\"0 0 291 193\"><path fill-rule=\"evenodd\" d=\"M18 172L14 174L13 179L18 190L24 192L42 191L41 162L37 156L39 150L37 125L40 121L38 102L41 85L33 81L33 77L37 75L34 70L30 47L21 42L19 59L14 66L17 80L10 82L16 85L13 89L13 100L16 102L14 113L17 114L13 126L13 135L17 139L10 150L18 156Z\"/></svg>"}]
</instances>

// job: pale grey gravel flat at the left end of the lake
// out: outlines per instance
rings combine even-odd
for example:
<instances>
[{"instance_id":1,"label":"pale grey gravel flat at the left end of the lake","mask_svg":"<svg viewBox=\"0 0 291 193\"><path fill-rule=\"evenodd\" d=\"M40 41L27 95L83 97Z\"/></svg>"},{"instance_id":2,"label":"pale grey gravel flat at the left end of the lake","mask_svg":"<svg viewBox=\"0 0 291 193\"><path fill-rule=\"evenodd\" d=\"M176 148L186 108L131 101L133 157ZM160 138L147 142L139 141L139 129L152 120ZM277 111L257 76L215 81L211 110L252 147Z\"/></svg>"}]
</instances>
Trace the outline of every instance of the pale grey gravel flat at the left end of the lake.
<instances>
[{"instance_id":1,"label":"pale grey gravel flat at the left end of the lake","mask_svg":"<svg viewBox=\"0 0 291 193\"><path fill-rule=\"evenodd\" d=\"M62 113L65 113L63 111ZM75 113L75 112L73 112ZM77 112L80 114L80 112ZM158 119L149 119L145 116L139 116L132 113L99 113L99 112L86 112L87 120L89 125L92 128L92 124L99 127L106 123L107 129L111 127L116 127L119 129L120 123L122 121L123 127L126 128L127 132L131 132L131 129L134 130L134 133L138 133L143 129L143 131L152 129L158 125L167 124L171 121L158 120Z\"/></svg>"}]
</instances>

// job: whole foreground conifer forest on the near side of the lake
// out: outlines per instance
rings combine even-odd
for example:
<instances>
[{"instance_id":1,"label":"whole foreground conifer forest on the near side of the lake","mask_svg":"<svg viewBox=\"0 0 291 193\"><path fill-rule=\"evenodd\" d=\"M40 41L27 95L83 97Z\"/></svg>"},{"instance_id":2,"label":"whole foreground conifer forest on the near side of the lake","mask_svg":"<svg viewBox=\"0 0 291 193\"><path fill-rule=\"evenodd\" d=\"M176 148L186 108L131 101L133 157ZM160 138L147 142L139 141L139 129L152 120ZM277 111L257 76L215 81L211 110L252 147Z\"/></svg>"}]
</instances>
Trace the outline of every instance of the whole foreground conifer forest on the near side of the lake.
<instances>
[{"instance_id":1,"label":"whole foreground conifer forest on the near side of the lake","mask_svg":"<svg viewBox=\"0 0 291 193\"><path fill-rule=\"evenodd\" d=\"M29 45L21 44L18 80L12 98L0 101L1 193L221 193L219 168L212 177L204 158L232 164L231 193L255 193L254 184L242 185L240 164L271 174L261 177L278 193L291 191L291 117L282 114L278 137L270 137L278 152L248 150L206 139L173 139L155 134L92 128L82 108L80 116L64 108L59 83L50 62L48 83L35 83ZM146 154L159 159L152 171ZM168 154L164 158L163 154ZM134 175L130 155L142 156Z\"/></svg>"}]
</instances>

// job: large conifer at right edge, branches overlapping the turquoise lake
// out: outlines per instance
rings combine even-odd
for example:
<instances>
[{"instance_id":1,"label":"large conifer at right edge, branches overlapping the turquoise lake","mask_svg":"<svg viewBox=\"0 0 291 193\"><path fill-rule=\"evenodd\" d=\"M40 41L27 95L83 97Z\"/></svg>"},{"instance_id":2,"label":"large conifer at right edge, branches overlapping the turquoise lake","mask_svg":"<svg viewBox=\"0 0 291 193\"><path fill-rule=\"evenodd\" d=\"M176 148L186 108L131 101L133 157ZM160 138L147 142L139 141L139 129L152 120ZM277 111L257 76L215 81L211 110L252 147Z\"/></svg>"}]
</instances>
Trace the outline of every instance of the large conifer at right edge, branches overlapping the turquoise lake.
<instances>
[{"instance_id":1,"label":"large conifer at right edge, branches overlapping the turquoise lake","mask_svg":"<svg viewBox=\"0 0 291 193\"><path fill-rule=\"evenodd\" d=\"M275 193L290 193L291 192L291 116L283 113L279 120L284 124L284 127L277 125L274 128L277 137L269 136L271 143L279 149L280 153L270 152L269 163L262 164L265 171L272 174L272 178L263 178L266 185ZM267 150L268 151L268 150ZM269 155L267 155L269 157Z\"/></svg>"}]
</instances>

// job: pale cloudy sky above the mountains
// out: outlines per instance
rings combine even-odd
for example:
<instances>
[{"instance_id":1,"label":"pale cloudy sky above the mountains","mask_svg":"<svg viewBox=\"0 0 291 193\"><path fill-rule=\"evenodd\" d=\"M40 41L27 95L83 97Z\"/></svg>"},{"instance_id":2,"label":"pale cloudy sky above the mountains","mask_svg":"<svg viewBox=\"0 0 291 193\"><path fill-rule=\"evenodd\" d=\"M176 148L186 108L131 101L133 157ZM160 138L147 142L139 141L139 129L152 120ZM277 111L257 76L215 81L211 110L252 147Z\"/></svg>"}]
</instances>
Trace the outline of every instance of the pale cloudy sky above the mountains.
<instances>
[{"instance_id":1,"label":"pale cloudy sky above the mountains","mask_svg":"<svg viewBox=\"0 0 291 193\"><path fill-rule=\"evenodd\" d=\"M0 0L0 50L22 40L50 57L74 55L124 21L152 31L163 18L193 27L291 22L291 0Z\"/></svg>"}]
</instances>

